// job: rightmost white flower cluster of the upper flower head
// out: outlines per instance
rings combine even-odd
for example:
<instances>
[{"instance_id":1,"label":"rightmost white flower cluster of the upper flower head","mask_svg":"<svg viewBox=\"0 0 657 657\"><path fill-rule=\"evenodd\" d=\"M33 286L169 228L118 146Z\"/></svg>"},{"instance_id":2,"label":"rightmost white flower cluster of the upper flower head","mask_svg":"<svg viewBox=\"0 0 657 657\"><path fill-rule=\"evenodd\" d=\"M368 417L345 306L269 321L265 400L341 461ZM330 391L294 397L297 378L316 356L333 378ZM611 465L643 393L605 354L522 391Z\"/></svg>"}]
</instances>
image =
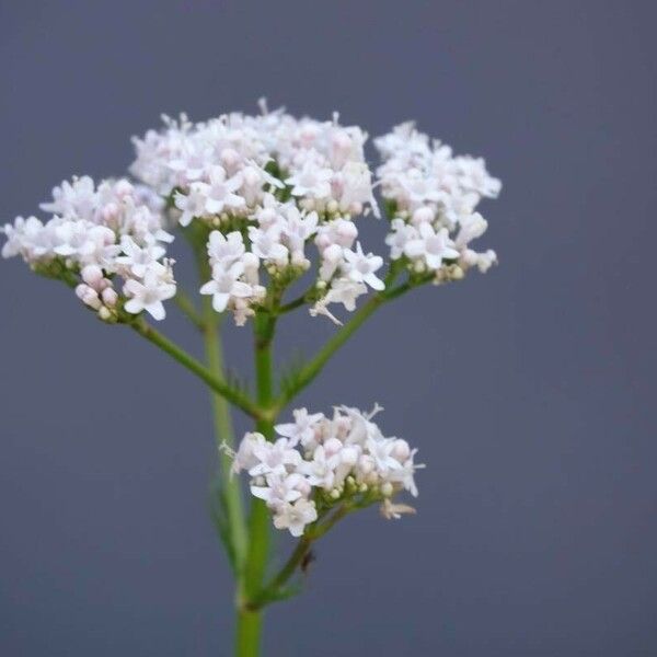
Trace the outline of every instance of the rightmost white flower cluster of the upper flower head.
<instances>
[{"instance_id":1,"label":"rightmost white flower cluster of the upper flower head","mask_svg":"<svg viewBox=\"0 0 657 657\"><path fill-rule=\"evenodd\" d=\"M461 278L473 266L486 272L497 261L495 252L477 253L469 244L488 226L476 206L497 197L502 183L484 160L454 157L413 123L396 126L374 146L383 160L377 171L382 195L393 212L385 240L391 258L405 257L413 272L435 272L437 280Z\"/></svg>"}]
</instances>

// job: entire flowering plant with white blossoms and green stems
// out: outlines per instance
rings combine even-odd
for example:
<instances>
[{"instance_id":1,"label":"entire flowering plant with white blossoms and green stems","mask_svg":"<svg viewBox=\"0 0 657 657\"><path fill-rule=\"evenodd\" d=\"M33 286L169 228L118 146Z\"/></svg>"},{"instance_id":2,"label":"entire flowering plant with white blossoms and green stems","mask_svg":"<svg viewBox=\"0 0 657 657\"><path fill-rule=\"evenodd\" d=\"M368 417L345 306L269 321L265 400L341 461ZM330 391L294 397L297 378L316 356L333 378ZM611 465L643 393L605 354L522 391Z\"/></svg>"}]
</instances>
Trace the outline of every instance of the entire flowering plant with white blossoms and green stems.
<instances>
[{"instance_id":1,"label":"entire flowering plant with white blossoms and green stems","mask_svg":"<svg viewBox=\"0 0 657 657\"><path fill-rule=\"evenodd\" d=\"M18 217L1 229L3 257L21 256L37 274L66 283L103 322L135 330L211 390L221 447L215 502L237 579L238 655L257 654L261 610L290 593L288 580L313 541L372 504L387 518L413 512L395 498L417 495L416 450L381 433L378 406L336 406L328 415L299 408L290 423L279 423L280 413L382 304L497 261L474 246L487 229L479 205L500 191L482 159L454 155L412 123L373 140L374 168L366 141L337 114L296 118L268 112L264 102L256 116L164 117L160 129L134 139L130 177L74 176L42 204L45 218ZM360 240L364 217L387 222L387 257ZM175 280L168 250L176 234L193 251L198 299ZM203 333L205 364L147 321L163 320L170 301ZM339 327L276 381L277 323L302 308ZM226 374L223 314L238 326L253 324L254 395ZM255 422L239 445L229 404ZM253 500L249 519L234 476L241 472ZM298 539L273 575L270 519Z\"/></svg>"}]
</instances>

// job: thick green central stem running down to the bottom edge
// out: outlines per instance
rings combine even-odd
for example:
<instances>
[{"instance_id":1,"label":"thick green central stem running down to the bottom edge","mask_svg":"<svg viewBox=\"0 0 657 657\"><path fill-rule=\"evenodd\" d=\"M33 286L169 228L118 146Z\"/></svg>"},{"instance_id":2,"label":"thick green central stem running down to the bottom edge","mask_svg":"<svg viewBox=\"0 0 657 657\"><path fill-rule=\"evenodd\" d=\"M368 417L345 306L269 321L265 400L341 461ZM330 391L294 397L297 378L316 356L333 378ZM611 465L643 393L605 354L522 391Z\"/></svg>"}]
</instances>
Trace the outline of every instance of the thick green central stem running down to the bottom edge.
<instances>
[{"instance_id":1,"label":"thick green central stem running down to the bottom edge","mask_svg":"<svg viewBox=\"0 0 657 657\"><path fill-rule=\"evenodd\" d=\"M274 379L272 364L272 341L276 318L267 312L258 312L254 320L255 337L255 380L257 387L257 405L268 410L274 400ZM258 419L256 429L267 440L274 438L274 419ZM249 519L249 551L243 569L243 598L238 611L238 636L235 655L238 657L256 657L261 646L262 611L251 607L261 591L267 566L269 551L269 512L264 502L253 499Z\"/></svg>"}]
</instances>

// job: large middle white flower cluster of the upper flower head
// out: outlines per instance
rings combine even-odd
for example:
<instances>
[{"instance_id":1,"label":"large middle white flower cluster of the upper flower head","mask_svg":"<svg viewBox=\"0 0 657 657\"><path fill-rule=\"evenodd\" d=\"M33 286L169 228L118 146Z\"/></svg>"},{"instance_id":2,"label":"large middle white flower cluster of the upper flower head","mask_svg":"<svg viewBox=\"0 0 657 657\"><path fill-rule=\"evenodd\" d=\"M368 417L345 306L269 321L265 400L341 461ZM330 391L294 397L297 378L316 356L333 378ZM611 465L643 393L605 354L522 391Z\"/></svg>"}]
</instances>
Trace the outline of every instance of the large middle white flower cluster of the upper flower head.
<instances>
[{"instance_id":1,"label":"large middle white flower cluster of the upper flower head","mask_svg":"<svg viewBox=\"0 0 657 657\"><path fill-rule=\"evenodd\" d=\"M383 260L362 252L351 220L378 214L360 128L266 110L164 122L162 131L135 139L130 171L171 199L183 227L196 219L216 229L208 243L212 279L203 293L214 296L218 312L232 310L243 324L265 296L260 266L293 280L311 266L306 246L313 239L313 315L335 320L330 303L353 311L368 285L383 288L374 274ZM230 247L220 246L221 235Z\"/></svg>"}]
</instances>

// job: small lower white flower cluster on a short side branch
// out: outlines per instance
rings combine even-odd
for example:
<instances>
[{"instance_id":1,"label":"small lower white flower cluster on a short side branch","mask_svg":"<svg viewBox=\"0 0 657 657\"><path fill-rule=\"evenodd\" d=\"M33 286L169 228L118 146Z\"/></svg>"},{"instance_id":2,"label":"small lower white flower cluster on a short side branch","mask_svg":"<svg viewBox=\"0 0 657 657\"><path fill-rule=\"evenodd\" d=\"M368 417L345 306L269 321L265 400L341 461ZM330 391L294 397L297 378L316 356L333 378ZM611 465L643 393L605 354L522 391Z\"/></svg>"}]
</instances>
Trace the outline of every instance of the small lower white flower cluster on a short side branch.
<instances>
[{"instance_id":1,"label":"small lower white flower cluster on a short side branch","mask_svg":"<svg viewBox=\"0 0 657 657\"><path fill-rule=\"evenodd\" d=\"M387 517L413 512L391 498L402 489L417 496L417 450L401 438L387 438L371 413L339 406L333 416L293 411L295 422L275 427L279 438L246 434L234 454L233 472L251 475L251 493L263 499L277 529L300 537L337 504L354 508L382 503Z\"/></svg>"}]
</instances>

